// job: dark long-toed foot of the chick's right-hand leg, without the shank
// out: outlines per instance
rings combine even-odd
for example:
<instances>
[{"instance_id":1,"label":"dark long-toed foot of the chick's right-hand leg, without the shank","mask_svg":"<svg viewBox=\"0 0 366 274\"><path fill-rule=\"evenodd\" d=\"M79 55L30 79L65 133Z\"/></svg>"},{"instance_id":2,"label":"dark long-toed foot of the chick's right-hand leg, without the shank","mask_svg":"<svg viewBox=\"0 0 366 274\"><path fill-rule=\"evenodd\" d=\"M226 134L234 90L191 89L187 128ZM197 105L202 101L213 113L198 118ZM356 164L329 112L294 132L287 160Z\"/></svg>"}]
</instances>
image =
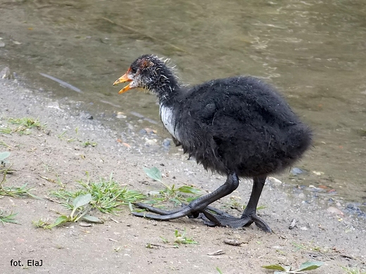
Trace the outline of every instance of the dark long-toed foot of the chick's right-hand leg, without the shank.
<instances>
[{"instance_id":1,"label":"dark long-toed foot of the chick's right-hand leg, without the shank","mask_svg":"<svg viewBox=\"0 0 366 274\"><path fill-rule=\"evenodd\" d=\"M203 223L205 223L207 226L230 226L232 228L241 228L255 223L255 226L258 226L258 228L262 229L263 231L269 233L272 232L270 226L268 226L265 221L259 218L257 214L255 214L255 211L244 211L244 214L241 216L241 218L236 218L224 211L215 209L214 207L206 207L206 209L201 211L198 218L202 218Z\"/></svg>"}]
</instances>

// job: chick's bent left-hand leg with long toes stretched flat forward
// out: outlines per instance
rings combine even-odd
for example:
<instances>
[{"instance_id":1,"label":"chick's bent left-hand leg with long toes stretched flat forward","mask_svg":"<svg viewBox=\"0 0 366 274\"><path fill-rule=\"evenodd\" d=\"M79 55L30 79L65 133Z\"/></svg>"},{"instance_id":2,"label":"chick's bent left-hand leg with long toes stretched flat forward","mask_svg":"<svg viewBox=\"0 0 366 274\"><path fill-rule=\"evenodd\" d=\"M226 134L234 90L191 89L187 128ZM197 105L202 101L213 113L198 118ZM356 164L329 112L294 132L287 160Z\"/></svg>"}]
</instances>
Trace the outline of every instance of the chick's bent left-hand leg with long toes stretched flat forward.
<instances>
[{"instance_id":1,"label":"chick's bent left-hand leg with long toes stretched flat forward","mask_svg":"<svg viewBox=\"0 0 366 274\"><path fill-rule=\"evenodd\" d=\"M174 218L180 218L182 216L198 216L199 212L203 212L206 210L209 204L219 200L226 195L232 193L239 185L239 178L235 173L228 174L227 180L220 188L213 191L208 195L204 195L202 197L198 197L196 200L190 202L189 204L181 207L180 209L173 209L171 211L165 211L162 209L156 209L155 207L151 207L147 204L136 203L137 207L142 209L148 209L149 211L159 214L147 214L146 212L132 212L134 216L145 217L145 218L152 218L154 220L172 220Z\"/></svg>"}]
</instances>

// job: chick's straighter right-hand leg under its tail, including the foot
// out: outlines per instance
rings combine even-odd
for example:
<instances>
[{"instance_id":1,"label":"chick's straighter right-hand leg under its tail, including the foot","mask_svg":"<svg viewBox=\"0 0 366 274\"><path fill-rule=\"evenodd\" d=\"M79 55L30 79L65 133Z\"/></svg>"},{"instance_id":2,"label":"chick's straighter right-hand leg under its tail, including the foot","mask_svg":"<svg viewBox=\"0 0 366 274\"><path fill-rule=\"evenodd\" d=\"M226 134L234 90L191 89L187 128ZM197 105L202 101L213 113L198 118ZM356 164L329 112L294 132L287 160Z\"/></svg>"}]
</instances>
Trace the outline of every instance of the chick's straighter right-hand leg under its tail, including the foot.
<instances>
[{"instance_id":1,"label":"chick's straighter right-hand leg under its tail, including the foot","mask_svg":"<svg viewBox=\"0 0 366 274\"><path fill-rule=\"evenodd\" d=\"M243 226L250 226L255 223L258 228L264 230L265 232L272 232L271 228L259 218L256 214L258 200L260 194L262 193L263 186L265 185L266 177L255 177L253 178L253 190L251 197L249 198L248 205L244 210L241 218L235 218L229 214L215 209L213 207L206 207L205 210L201 211L204 215L201 216L208 226L231 226L232 228L240 228Z\"/></svg>"}]
</instances>

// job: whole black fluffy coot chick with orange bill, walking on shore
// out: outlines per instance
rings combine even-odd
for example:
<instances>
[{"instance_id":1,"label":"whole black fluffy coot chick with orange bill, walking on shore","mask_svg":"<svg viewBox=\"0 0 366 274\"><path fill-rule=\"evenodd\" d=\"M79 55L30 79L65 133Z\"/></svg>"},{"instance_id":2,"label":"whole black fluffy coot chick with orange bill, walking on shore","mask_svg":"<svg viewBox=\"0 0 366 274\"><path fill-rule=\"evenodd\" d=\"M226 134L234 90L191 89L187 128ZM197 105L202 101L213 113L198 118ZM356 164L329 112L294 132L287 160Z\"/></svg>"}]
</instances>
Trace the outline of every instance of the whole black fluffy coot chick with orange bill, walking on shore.
<instances>
[{"instance_id":1,"label":"whole black fluffy coot chick with orange bill, walking on shore","mask_svg":"<svg viewBox=\"0 0 366 274\"><path fill-rule=\"evenodd\" d=\"M115 84L120 90L142 88L155 93L160 118L177 145L203 167L225 174L220 188L172 211L146 204L137 206L155 214L135 216L171 220L201 216L208 226L239 228L255 223L270 232L256 215L256 207L269 174L283 171L300 159L311 143L311 131L270 85L255 77L215 79L187 89L179 85L170 67L156 56L144 55L132 63ZM209 204L229 195L239 177L253 178L253 190L240 218Z\"/></svg>"}]
</instances>

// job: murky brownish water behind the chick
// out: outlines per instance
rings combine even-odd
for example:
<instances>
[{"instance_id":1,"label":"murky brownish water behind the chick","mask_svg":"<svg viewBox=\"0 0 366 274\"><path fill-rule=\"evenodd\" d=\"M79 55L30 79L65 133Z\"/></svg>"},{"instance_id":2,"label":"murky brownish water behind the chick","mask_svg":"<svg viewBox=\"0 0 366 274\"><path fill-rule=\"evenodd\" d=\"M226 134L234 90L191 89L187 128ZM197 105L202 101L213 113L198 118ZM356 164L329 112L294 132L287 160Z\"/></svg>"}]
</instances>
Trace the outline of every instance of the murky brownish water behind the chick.
<instances>
[{"instance_id":1,"label":"murky brownish water behind the chick","mask_svg":"<svg viewBox=\"0 0 366 274\"><path fill-rule=\"evenodd\" d=\"M1 64L116 129L126 126L117 112L130 121L139 114L168 136L153 124L159 120L154 96L118 96L112 86L141 54L171 58L187 84L263 77L314 129L314 148L298 164L309 171L303 183L330 185L366 202L363 0L1 0L0 37Z\"/></svg>"}]
</instances>

